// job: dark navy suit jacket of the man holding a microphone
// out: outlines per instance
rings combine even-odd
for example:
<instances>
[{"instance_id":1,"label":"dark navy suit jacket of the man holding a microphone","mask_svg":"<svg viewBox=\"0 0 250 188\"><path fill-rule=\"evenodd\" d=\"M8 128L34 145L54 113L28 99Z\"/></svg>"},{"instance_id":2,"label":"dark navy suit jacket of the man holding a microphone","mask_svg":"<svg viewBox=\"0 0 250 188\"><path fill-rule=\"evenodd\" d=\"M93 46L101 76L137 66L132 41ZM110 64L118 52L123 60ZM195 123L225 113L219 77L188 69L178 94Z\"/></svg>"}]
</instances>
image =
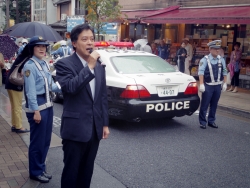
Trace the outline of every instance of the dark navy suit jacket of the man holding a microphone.
<instances>
[{"instance_id":1,"label":"dark navy suit jacket of the man holding a microphone","mask_svg":"<svg viewBox=\"0 0 250 188\"><path fill-rule=\"evenodd\" d=\"M81 60L74 53L59 60L55 68L56 79L61 85L64 97L62 139L88 142L94 124L98 139L101 140L103 126L108 126L109 123L104 67L97 62L94 75L88 66L83 67ZM93 78L95 78L94 99L89 85Z\"/></svg>"}]
</instances>

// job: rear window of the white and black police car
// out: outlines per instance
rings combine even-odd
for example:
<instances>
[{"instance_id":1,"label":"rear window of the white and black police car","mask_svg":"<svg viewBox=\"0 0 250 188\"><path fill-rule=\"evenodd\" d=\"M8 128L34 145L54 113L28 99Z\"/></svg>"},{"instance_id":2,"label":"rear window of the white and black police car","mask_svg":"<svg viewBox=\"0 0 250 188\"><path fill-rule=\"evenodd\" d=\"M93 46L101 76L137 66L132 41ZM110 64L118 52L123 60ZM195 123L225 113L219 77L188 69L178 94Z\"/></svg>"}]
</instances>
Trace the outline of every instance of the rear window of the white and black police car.
<instances>
[{"instance_id":1,"label":"rear window of the white and black police car","mask_svg":"<svg viewBox=\"0 0 250 188\"><path fill-rule=\"evenodd\" d=\"M157 56L116 56L111 62L121 74L176 72L172 65Z\"/></svg>"}]
</instances>

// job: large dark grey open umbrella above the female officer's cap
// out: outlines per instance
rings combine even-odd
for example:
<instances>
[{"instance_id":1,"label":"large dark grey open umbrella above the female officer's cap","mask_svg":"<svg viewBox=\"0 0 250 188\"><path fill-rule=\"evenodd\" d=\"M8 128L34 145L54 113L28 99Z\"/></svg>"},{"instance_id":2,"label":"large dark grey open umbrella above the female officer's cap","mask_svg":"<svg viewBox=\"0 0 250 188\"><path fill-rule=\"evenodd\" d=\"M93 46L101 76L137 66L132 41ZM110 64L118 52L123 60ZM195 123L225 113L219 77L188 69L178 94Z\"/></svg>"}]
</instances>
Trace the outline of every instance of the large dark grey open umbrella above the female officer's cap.
<instances>
[{"instance_id":1,"label":"large dark grey open umbrella above the female officer's cap","mask_svg":"<svg viewBox=\"0 0 250 188\"><path fill-rule=\"evenodd\" d=\"M3 33L14 37L42 36L45 40L53 42L62 40L62 37L52 27L38 22L19 23Z\"/></svg>"}]
</instances>

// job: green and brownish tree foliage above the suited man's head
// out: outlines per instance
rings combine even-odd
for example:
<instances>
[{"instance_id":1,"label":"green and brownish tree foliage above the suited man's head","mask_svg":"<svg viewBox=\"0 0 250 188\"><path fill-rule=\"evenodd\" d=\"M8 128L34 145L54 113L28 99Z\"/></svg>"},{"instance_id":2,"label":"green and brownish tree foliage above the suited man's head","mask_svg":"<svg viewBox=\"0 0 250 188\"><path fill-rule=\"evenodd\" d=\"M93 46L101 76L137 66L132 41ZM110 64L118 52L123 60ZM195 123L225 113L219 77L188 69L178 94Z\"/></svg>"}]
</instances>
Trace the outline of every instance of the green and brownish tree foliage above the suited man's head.
<instances>
[{"instance_id":1,"label":"green and brownish tree foliage above the suited man's head","mask_svg":"<svg viewBox=\"0 0 250 188\"><path fill-rule=\"evenodd\" d=\"M119 0L81 0L88 10L86 20L96 30L99 40L100 33L104 33L106 22L116 22L121 19ZM105 33L104 33L105 34Z\"/></svg>"}]
</instances>

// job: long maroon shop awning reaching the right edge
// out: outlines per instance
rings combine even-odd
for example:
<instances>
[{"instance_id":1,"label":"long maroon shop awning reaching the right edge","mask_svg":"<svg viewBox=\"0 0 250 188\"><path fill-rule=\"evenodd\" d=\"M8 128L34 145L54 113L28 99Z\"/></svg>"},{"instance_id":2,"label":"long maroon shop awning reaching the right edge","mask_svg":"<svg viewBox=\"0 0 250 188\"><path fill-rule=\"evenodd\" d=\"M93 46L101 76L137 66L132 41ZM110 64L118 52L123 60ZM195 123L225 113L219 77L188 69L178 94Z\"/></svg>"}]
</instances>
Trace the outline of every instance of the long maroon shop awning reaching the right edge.
<instances>
[{"instance_id":1,"label":"long maroon shop awning reaching the right edge","mask_svg":"<svg viewBox=\"0 0 250 188\"><path fill-rule=\"evenodd\" d=\"M250 6L218 8L179 8L146 15L141 22L151 24L250 24Z\"/></svg>"}]
</instances>

